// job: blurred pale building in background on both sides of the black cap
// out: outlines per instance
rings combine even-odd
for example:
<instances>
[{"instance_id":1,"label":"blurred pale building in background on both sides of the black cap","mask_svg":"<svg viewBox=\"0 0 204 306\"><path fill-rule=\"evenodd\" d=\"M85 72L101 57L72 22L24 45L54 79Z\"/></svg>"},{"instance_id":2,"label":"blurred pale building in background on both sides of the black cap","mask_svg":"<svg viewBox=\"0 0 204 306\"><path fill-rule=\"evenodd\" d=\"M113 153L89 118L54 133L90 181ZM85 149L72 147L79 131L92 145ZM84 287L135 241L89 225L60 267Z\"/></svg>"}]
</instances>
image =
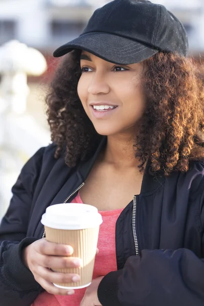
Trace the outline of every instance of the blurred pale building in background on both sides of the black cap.
<instances>
[{"instance_id":1,"label":"blurred pale building in background on both sides of the black cap","mask_svg":"<svg viewBox=\"0 0 204 306\"><path fill-rule=\"evenodd\" d=\"M52 54L77 37L96 7L107 0L0 0L0 44L11 39ZM204 0L152 0L165 5L185 25L190 54L204 52ZM125 17L125 15L124 15Z\"/></svg>"}]
</instances>

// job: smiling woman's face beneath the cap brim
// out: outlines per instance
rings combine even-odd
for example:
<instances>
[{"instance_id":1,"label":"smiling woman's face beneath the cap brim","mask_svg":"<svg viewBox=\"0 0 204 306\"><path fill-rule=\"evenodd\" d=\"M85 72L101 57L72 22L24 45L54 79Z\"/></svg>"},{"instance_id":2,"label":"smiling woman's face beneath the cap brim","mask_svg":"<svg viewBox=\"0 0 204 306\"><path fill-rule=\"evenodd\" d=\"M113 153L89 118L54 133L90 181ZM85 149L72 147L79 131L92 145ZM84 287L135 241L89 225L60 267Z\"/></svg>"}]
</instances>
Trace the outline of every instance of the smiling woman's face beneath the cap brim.
<instances>
[{"instance_id":1,"label":"smiling woman's face beneath the cap brim","mask_svg":"<svg viewBox=\"0 0 204 306\"><path fill-rule=\"evenodd\" d=\"M141 63L118 65L82 52L78 94L100 135L133 133L145 109Z\"/></svg>"}]
</instances>

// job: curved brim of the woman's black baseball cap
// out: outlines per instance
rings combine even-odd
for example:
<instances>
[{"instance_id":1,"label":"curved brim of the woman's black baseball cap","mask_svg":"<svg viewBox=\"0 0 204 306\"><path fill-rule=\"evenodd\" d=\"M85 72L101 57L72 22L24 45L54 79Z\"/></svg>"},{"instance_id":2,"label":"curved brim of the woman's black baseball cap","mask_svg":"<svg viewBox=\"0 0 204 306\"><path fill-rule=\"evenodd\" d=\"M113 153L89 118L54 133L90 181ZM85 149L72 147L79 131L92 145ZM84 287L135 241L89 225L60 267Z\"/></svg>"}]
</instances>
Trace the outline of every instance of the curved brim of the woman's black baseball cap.
<instances>
[{"instance_id":1,"label":"curved brim of the woman's black baseball cap","mask_svg":"<svg viewBox=\"0 0 204 306\"><path fill-rule=\"evenodd\" d=\"M82 49L108 62L124 65L142 62L159 51L129 38L91 32L82 34L57 48L53 56L61 57L74 49Z\"/></svg>"}]
</instances>

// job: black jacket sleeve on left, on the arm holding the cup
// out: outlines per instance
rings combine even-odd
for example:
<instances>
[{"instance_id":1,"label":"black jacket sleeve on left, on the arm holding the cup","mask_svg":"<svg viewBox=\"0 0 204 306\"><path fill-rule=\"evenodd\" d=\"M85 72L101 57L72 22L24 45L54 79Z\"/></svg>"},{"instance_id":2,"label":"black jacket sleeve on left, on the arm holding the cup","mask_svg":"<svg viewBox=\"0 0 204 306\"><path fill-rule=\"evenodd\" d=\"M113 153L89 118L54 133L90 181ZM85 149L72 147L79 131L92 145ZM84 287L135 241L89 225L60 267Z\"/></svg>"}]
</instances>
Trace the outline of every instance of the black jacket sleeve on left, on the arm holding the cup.
<instances>
[{"instance_id":1,"label":"black jacket sleeve on left, on the arm holding the cup","mask_svg":"<svg viewBox=\"0 0 204 306\"><path fill-rule=\"evenodd\" d=\"M31 271L23 265L21 250L36 240L26 236L43 153L44 148L39 149L22 168L12 188L13 196L10 206L0 225L0 300L2 306L23 305L20 301L24 295L41 290Z\"/></svg>"}]
</instances>

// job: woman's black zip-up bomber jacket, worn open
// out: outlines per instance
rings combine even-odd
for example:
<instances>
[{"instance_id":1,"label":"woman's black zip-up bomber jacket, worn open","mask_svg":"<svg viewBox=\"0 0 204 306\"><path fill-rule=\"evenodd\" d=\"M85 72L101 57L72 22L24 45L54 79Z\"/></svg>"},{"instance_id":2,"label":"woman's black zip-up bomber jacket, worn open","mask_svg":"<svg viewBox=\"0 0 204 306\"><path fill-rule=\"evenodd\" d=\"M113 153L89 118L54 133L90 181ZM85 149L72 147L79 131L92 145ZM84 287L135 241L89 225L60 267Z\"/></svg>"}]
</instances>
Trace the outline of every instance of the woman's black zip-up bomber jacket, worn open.
<instances>
[{"instance_id":1,"label":"woman's black zip-up bomber jacket, worn open","mask_svg":"<svg viewBox=\"0 0 204 306\"><path fill-rule=\"evenodd\" d=\"M54 144L23 167L0 226L1 306L29 306L42 291L21 262L21 249L42 237L46 207L72 200L103 145L72 169L64 157L54 158ZM147 164L140 195L124 203L116 223L118 271L99 285L103 306L204 305L203 187L204 163L169 177L149 175Z\"/></svg>"}]
</instances>

